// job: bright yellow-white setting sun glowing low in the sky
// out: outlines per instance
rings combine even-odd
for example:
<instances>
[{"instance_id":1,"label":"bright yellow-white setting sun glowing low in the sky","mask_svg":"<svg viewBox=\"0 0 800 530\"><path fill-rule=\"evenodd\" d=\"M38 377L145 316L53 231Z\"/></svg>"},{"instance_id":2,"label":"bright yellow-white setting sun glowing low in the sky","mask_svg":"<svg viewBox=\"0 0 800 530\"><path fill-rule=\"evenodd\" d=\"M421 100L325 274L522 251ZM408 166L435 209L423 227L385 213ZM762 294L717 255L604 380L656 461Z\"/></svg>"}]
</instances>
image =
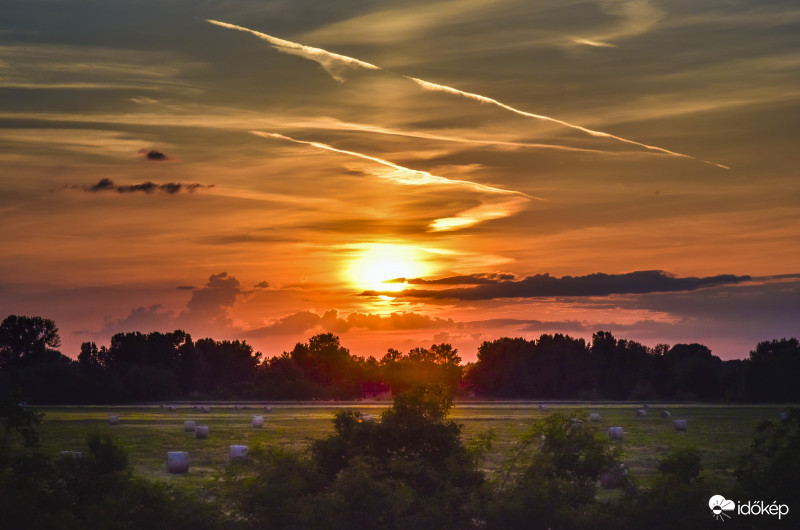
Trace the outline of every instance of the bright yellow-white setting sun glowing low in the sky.
<instances>
[{"instance_id":1,"label":"bright yellow-white setting sun glowing low in the sky","mask_svg":"<svg viewBox=\"0 0 800 530\"><path fill-rule=\"evenodd\" d=\"M423 258L425 251L416 247L373 243L359 249L350 262L348 276L353 285L365 291L402 291L405 282L389 280L418 278L430 269ZM390 296L382 298L391 299Z\"/></svg>"}]
</instances>

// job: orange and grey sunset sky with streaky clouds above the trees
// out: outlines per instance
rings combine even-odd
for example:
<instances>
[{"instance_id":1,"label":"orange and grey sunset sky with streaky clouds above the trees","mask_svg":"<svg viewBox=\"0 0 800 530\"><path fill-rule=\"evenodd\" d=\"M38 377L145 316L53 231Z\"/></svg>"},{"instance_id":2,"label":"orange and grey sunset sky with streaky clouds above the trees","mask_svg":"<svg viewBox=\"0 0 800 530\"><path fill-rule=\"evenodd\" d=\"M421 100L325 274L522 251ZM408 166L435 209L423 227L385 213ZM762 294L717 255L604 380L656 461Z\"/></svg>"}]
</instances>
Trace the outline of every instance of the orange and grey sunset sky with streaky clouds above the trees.
<instances>
[{"instance_id":1,"label":"orange and grey sunset sky with streaky clouds above the trees","mask_svg":"<svg viewBox=\"0 0 800 530\"><path fill-rule=\"evenodd\" d=\"M0 3L0 316L66 355L800 335L796 2Z\"/></svg>"}]
</instances>

